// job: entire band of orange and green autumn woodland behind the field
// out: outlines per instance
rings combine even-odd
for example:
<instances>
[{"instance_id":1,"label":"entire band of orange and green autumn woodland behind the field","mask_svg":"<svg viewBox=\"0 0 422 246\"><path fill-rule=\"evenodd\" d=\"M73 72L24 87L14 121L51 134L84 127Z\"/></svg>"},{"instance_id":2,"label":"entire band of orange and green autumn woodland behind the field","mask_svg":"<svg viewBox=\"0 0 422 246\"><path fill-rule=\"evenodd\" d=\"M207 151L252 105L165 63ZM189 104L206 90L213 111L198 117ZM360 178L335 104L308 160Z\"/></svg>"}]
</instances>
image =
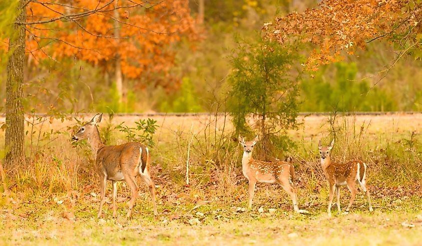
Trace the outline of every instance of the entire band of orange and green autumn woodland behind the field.
<instances>
[{"instance_id":1,"label":"entire band of orange and green autumn woodland behind the field","mask_svg":"<svg viewBox=\"0 0 422 246\"><path fill-rule=\"evenodd\" d=\"M24 25L23 69L15 69L24 86L8 100L23 112L227 111L233 36L264 26L266 38L301 43L309 57L288 71L305 70L296 80L301 111L420 111L420 2L319 2L1 1L0 86L10 37ZM6 95L0 90L0 112Z\"/></svg>"}]
</instances>

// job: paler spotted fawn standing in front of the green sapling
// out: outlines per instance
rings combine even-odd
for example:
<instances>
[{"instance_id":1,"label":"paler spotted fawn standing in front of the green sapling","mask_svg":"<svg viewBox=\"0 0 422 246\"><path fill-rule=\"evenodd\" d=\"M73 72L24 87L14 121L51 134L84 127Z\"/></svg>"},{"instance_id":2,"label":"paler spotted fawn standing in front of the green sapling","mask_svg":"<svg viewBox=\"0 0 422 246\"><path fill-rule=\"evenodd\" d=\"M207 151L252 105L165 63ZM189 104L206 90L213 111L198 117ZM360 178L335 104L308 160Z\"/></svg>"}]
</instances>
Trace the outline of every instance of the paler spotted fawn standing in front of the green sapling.
<instances>
[{"instance_id":1,"label":"paler spotted fawn standing in front of the green sapling","mask_svg":"<svg viewBox=\"0 0 422 246\"><path fill-rule=\"evenodd\" d=\"M300 213L295 188L292 186L293 179L295 178L295 168L288 162L263 162L254 160L252 158L252 151L257 141L258 136L253 141L245 142L245 139L239 135L239 143L243 146L242 172L249 183L248 208L252 208L256 182L278 183L292 198L295 212Z\"/></svg>"}]
</instances>

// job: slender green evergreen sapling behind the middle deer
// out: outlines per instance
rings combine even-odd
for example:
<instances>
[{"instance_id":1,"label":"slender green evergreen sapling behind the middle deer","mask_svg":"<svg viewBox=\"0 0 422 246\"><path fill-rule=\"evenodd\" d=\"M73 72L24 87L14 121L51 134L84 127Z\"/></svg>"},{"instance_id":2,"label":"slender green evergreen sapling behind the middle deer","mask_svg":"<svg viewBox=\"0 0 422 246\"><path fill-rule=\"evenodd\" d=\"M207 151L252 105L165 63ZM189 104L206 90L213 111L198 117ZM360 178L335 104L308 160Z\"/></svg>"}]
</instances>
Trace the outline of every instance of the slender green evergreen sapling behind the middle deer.
<instances>
[{"instance_id":1,"label":"slender green evergreen sapling behind the middle deer","mask_svg":"<svg viewBox=\"0 0 422 246\"><path fill-rule=\"evenodd\" d=\"M286 130L297 125L298 84L289 75L297 55L261 37L237 43L229 75L229 107L236 134L252 137L252 131L257 132L264 153L278 154L290 142ZM249 116L256 119L252 125Z\"/></svg>"}]
</instances>

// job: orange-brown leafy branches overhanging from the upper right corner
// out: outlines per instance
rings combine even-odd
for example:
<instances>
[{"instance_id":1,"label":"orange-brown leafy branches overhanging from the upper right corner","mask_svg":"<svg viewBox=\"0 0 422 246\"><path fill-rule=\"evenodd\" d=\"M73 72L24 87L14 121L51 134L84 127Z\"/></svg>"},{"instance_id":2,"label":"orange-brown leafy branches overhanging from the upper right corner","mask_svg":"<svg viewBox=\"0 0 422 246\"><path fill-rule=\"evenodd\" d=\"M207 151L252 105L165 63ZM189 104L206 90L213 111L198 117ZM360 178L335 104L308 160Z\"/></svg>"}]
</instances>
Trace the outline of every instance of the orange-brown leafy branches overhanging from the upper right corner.
<instances>
[{"instance_id":1,"label":"orange-brown leafy branches overhanging from the upper right corner","mask_svg":"<svg viewBox=\"0 0 422 246\"><path fill-rule=\"evenodd\" d=\"M273 23L265 23L263 30L267 39L279 43L299 39L313 44L315 49L304 65L316 70L378 39L398 46L396 61L409 52L421 59L421 21L419 0L322 0L319 8L278 16Z\"/></svg>"}]
</instances>

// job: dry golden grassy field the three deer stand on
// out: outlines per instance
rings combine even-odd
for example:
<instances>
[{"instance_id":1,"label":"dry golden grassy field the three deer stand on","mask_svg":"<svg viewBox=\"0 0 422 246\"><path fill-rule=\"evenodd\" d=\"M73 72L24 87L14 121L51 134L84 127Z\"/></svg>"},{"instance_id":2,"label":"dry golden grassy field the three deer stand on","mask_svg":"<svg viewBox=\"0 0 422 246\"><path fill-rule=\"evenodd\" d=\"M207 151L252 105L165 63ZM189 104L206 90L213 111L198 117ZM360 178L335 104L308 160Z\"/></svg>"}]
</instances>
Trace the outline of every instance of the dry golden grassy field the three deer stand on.
<instances>
[{"instance_id":1,"label":"dry golden grassy field the three deer stand on","mask_svg":"<svg viewBox=\"0 0 422 246\"><path fill-rule=\"evenodd\" d=\"M257 185L253 209L245 210L242 150L231 137L221 138L231 131L224 117L154 118L159 125L152 148L157 218L146 187L140 185L133 217L126 220L130 193L121 183L118 217L111 217L109 184L105 215L97 219L99 185L89 150L70 144L68 127L75 121L47 121L33 129L28 124L27 129L35 132L27 136L30 161L7 173L8 190L1 193L0 244L422 245L422 114L338 117L334 124L327 116L301 117L300 128L289 131L297 147L286 156L296 166L299 208L309 211L305 215L294 214L287 194L268 184ZM108 124L103 119L100 128L123 121L131 126L137 120L115 117ZM41 134L38 141L38 131L50 134ZM337 215L334 206L333 216L327 217L328 189L317 143L322 138L328 144L333 131L338 139L333 149L336 159L367 160L374 213L359 190L349 214ZM1 144L3 138L1 132ZM110 141L122 143L124 134L111 131ZM221 141L227 153L217 153ZM189 142L190 184L186 185ZM347 189L342 189L342 208L349 198Z\"/></svg>"}]
</instances>

